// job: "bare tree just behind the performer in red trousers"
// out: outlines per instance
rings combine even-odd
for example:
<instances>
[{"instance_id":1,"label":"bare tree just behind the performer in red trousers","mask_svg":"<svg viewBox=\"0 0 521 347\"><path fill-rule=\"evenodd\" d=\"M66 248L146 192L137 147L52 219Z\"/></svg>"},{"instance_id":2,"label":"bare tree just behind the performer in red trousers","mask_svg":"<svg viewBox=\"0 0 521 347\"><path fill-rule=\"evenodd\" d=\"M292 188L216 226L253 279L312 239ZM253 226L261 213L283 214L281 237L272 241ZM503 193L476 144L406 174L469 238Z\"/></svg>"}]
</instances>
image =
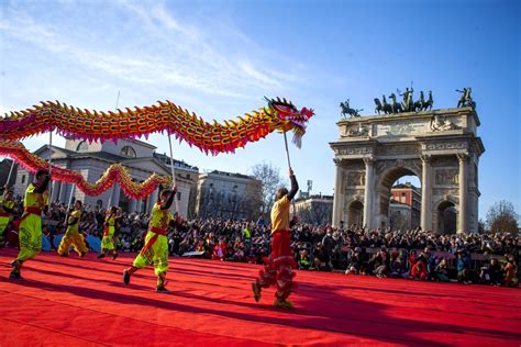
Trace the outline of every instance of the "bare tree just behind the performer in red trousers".
<instances>
[{"instance_id":1,"label":"bare tree just behind the performer in red trousers","mask_svg":"<svg viewBox=\"0 0 521 347\"><path fill-rule=\"evenodd\" d=\"M250 168L250 171L252 172L251 176L262 183L262 197L257 199L260 202L260 213L267 216L275 202L277 189L287 186L286 180L280 176L280 168L273 166L271 163L256 164Z\"/></svg>"}]
</instances>

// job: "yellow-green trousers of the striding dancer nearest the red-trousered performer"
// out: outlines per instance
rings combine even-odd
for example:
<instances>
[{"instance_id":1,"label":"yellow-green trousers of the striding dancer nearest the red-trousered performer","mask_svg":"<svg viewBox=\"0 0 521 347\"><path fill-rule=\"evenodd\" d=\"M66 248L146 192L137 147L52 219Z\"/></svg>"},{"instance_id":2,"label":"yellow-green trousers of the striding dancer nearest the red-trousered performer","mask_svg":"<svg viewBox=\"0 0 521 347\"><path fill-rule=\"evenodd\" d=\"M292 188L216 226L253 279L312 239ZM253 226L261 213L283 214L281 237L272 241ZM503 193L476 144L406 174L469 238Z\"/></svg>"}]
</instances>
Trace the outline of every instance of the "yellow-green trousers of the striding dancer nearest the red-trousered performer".
<instances>
[{"instance_id":1,"label":"yellow-green trousers of the striding dancer nearest the red-trousered performer","mask_svg":"<svg viewBox=\"0 0 521 347\"><path fill-rule=\"evenodd\" d=\"M156 235L153 232L148 232L145 237L145 246L152 237ZM142 254L140 253L135 257L133 266L137 269L145 268L154 264L154 273L166 273L168 271L168 239L164 235L157 235L157 239L148 249Z\"/></svg>"}]
</instances>

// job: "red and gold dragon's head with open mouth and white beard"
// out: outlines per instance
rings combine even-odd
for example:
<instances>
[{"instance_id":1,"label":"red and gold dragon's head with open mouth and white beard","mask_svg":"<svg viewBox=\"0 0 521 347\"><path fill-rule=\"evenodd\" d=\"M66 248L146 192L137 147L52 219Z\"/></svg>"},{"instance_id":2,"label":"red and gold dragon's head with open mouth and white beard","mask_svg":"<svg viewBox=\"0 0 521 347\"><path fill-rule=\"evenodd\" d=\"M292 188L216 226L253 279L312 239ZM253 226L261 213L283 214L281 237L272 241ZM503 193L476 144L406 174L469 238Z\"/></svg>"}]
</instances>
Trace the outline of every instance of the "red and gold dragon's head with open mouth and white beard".
<instances>
[{"instance_id":1,"label":"red and gold dragon's head with open mouth and white beard","mask_svg":"<svg viewBox=\"0 0 521 347\"><path fill-rule=\"evenodd\" d=\"M313 110L303 108L299 111L291 101L286 99L268 99L266 97L265 99L268 102L268 109L264 109L264 112L280 121L280 124L276 126L278 131L293 131L293 143L300 148L309 119L314 114Z\"/></svg>"}]
</instances>

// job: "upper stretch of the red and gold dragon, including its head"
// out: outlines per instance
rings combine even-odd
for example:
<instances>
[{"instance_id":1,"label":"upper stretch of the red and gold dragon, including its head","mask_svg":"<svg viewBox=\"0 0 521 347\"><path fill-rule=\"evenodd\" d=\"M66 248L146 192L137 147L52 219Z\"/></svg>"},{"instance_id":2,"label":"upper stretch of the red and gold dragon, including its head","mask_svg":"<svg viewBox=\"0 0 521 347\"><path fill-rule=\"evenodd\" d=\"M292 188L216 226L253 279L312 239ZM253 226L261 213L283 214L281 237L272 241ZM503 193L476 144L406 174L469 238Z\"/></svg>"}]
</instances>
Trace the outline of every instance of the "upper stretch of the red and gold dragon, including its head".
<instances>
[{"instance_id":1,"label":"upper stretch of the red and gold dragon, including its head","mask_svg":"<svg viewBox=\"0 0 521 347\"><path fill-rule=\"evenodd\" d=\"M167 132L204 153L233 153L248 142L256 142L275 130L306 132L312 110L298 111L286 100L268 100L268 108L246 113L237 121L210 124L182 108L167 102L145 108L97 112L80 110L60 102L42 102L32 109L11 112L0 120L0 141L19 141L31 135L57 131L64 136L87 141L118 141Z\"/></svg>"}]
</instances>

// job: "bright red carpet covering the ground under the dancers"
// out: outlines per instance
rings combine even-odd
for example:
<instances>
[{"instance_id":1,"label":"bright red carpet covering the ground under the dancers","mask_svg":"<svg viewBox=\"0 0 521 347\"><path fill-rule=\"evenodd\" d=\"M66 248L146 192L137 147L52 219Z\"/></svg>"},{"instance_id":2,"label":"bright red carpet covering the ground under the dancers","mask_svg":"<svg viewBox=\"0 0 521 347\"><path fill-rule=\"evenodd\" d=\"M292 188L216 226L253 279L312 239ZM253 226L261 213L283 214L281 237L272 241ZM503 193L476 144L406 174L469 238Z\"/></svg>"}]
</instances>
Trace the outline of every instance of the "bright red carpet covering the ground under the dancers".
<instances>
[{"instance_id":1,"label":"bright red carpet covering the ground under the dancers","mask_svg":"<svg viewBox=\"0 0 521 347\"><path fill-rule=\"evenodd\" d=\"M475 345L521 344L521 290L300 271L296 309L259 303L259 267L170 259L170 294L145 269L125 288L115 261L42 253L10 281L0 249L0 346Z\"/></svg>"}]
</instances>

